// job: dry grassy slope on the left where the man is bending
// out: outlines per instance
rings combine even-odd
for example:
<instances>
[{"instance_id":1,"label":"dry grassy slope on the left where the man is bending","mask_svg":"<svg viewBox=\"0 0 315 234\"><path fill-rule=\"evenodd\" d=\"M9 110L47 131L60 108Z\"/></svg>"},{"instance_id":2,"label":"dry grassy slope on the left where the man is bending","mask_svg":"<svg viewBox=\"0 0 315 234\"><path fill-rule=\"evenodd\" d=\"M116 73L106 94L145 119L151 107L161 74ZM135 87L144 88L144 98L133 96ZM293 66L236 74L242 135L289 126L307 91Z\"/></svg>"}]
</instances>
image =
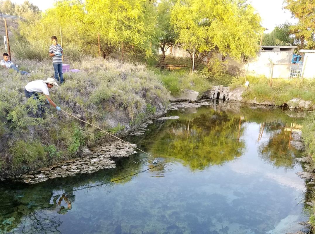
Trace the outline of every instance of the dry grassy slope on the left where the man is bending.
<instances>
[{"instance_id":1,"label":"dry grassy slope on the left where the man is bending","mask_svg":"<svg viewBox=\"0 0 315 234\"><path fill-rule=\"evenodd\" d=\"M94 127L45 105L44 118L36 115L38 102L26 99L24 86L53 77L51 62L14 60L22 76L0 69L0 174L42 167L77 155L106 136ZM165 111L169 92L159 77L143 65L117 60L85 58L73 62L79 73L65 73L65 83L50 89L57 106L113 134L128 131L157 112ZM44 101L44 98L41 99Z\"/></svg>"}]
</instances>

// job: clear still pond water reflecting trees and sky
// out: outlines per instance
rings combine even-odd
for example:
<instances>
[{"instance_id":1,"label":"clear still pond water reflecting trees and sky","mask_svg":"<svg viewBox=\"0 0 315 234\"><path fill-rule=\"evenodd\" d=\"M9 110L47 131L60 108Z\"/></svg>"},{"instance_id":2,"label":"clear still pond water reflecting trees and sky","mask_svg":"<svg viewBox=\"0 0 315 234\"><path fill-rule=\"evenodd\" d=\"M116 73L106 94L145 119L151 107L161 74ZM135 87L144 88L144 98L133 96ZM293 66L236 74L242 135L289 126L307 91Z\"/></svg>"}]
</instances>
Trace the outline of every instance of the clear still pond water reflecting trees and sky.
<instances>
[{"instance_id":1,"label":"clear still pond water reflecting trees and sky","mask_svg":"<svg viewBox=\"0 0 315 234\"><path fill-rule=\"evenodd\" d=\"M212 106L189 108L167 115L180 118L155 120L144 135L125 138L165 162L162 166L138 153L94 174L37 185L1 184L0 233L302 229L306 187L295 174L302 169L294 160L301 152L288 147L288 132L284 136L285 126L301 119L248 107L220 113Z\"/></svg>"}]
</instances>

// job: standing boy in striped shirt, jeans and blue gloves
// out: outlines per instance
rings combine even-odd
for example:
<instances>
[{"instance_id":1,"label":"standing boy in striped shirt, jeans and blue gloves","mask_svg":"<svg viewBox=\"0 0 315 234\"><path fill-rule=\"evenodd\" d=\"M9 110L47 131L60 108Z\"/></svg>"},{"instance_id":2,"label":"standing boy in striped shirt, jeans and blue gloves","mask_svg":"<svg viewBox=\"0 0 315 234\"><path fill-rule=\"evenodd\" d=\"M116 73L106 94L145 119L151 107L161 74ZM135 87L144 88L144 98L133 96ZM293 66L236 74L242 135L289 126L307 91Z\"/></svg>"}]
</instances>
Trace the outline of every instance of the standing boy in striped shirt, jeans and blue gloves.
<instances>
[{"instance_id":1,"label":"standing boy in striped shirt, jeans and blue gloves","mask_svg":"<svg viewBox=\"0 0 315 234\"><path fill-rule=\"evenodd\" d=\"M62 59L61 56L63 55L63 49L60 44L58 44L58 40L56 36L51 37L51 42L53 43L49 47L49 56L53 57L53 65L54 65L54 71L55 71L55 79L63 83L63 74L62 74ZM59 73L59 77L58 77Z\"/></svg>"}]
</instances>

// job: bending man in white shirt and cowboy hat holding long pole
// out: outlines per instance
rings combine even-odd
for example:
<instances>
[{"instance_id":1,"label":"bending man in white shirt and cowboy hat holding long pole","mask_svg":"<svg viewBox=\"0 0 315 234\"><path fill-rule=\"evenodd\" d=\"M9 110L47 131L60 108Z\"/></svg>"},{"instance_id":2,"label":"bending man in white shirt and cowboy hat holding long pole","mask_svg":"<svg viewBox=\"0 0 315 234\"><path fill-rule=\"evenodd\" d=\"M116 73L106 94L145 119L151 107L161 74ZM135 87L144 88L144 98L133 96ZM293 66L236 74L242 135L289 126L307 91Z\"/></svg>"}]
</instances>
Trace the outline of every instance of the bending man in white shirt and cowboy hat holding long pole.
<instances>
[{"instance_id":1,"label":"bending man in white shirt and cowboy hat holding long pole","mask_svg":"<svg viewBox=\"0 0 315 234\"><path fill-rule=\"evenodd\" d=\"M58 84L55 82L54 78L47 78L47 80L34 80L29 82L24 89L25 96L27 98L33 98L38 99L37 93L42 93L46 96L47 102L49 102L52 106L56 108L57 111L60 111L60 107L57 106L53 100L49 97L49 88L53 88L54 85L58 86ZM42 108L40 108L42 109ZM42 110L43 112L43 110Z\"/></svg>"}]
</instances>

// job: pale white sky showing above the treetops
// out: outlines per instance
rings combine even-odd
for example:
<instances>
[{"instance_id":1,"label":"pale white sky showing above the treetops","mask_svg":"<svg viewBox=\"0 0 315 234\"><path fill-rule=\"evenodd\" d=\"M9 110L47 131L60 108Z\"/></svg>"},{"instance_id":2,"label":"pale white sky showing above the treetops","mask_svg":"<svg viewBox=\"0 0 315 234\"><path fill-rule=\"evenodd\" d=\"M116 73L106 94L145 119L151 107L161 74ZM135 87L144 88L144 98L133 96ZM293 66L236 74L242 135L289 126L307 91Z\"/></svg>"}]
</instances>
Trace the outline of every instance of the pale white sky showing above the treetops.
<instances>
[{"instance_id":1,"label":"pale white sky showing above the treetops","mask_svg":"<svg viewBox=\"0 0 315 234\"><path fill-rule=\"evenodd\" d=\"M54 0L29 0L42 11L53 7ZM15 3L23 3L24 0L13 0ZM249 3L257 10L262 19L262 26L271 32L275 26L281 25L286 21L296 23L295 19L291 18L288 10L283 9L283 0L249 0Z\"/></svg>"}]
</instances>

